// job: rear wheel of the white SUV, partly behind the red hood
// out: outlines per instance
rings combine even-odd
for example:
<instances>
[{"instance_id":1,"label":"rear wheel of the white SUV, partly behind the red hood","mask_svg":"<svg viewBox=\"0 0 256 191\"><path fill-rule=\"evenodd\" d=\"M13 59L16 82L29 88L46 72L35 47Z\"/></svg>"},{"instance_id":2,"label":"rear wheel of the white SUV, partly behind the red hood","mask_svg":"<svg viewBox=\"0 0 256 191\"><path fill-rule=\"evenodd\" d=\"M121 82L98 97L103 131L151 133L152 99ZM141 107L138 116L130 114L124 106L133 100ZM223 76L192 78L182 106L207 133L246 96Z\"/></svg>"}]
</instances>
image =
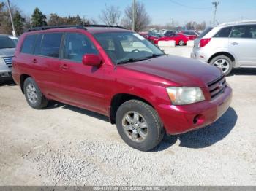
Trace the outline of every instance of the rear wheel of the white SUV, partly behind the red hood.
<instances>
[{"instance_id":1,"label":"rear wheel of the white SUV, partly behind the red hood","mask_svg":"<svg viewBox=\"0 0 256 191\"><path fill-rule=\"evenodd\" d=\"M214 57L211 59L210 64L212 66L217 66L219 69L222 69L225 76L230 74L233 69L233 62L225 55L218 55L217 57Z\"/></svg>"}]
</instances>

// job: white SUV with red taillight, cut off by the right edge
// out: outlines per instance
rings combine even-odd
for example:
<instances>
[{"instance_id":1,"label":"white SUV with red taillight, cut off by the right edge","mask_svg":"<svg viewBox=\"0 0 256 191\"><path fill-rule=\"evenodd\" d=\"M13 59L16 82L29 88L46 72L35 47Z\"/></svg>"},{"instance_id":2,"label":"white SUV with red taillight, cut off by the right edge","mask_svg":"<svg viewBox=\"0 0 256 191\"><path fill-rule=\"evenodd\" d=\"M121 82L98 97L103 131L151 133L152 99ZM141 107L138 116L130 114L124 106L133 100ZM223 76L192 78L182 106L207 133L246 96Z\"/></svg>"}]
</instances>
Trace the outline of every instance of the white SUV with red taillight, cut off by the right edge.
<instances>
[{"instance_id":1,"label":"white SUV with red taillight, cut off by the right edge","mask_svg":"<svg viewBox=\"0 0 256 191\"><path fill-rule=\"evenodd\" d=\"M207 28L195 39L191 58L217 66L225 75L233 68L255 68L256 20Z\"/></svg>"}]
</instances>

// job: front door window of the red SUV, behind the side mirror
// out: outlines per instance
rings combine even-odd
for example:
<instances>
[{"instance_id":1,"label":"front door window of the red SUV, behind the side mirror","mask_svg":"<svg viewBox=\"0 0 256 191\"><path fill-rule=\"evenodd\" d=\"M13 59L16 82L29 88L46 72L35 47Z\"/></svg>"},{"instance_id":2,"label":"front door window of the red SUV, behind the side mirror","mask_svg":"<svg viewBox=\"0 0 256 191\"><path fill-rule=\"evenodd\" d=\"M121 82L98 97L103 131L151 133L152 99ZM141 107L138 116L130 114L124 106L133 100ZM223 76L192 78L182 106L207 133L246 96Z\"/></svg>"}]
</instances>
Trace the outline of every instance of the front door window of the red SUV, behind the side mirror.
<instances>
[{"instance_id":1,"label":"front door window of the red SUV, behind the side mirror","mask_svg":"<svg viewBox=\"0 0 256 191\"><path fill-rule=\"evenodd\" d=\"M63 58L71 61L82 62L83 55L98 54L94 44L83 34L66 35Z\"/></svg>"}]
</instances>

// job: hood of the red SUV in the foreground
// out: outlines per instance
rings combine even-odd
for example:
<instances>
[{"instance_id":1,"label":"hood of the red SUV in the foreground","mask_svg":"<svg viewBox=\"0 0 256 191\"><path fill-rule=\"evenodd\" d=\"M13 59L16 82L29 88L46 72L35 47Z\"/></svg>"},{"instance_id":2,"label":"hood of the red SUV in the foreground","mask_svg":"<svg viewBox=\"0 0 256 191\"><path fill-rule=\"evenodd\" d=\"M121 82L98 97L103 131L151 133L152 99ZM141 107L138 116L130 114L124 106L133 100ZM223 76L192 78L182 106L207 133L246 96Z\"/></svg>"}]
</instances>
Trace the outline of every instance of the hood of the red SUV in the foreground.
<instances>
[{"instance_id":1,"label":"hood of the red SUV in the foreground","mask_svg":"<svg viewBox=\"0 0 256 191\"><path fill-rule=\"evenodd\" d=\"M167 79L176 85L190 87L206 87L209 82L222 75L222 71L215 66L208 65L208 63L173 55L127 63L123 66L127 69Z\"/></svg>"}]
</instances>

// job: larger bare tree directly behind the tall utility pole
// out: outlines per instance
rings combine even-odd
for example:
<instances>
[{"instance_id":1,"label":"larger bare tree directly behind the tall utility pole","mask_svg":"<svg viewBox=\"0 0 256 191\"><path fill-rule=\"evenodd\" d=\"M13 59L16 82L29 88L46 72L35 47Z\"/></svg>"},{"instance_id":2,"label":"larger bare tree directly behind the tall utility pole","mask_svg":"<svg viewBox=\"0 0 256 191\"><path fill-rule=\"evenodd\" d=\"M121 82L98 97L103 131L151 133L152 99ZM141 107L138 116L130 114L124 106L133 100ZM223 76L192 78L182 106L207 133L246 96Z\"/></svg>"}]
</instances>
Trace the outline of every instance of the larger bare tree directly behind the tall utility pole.
<instances>
[{"instance_id":1,"label":"larger bare tree directly behind the tall utility pole","mask_svg":"<svg viewBox=\"0 0 256 191\"><path fill-rule=\"evenodd\" d=\"M122 25L132 29L132 5L124 10L125 17L122 20ZM136 1L135 3L135 31L142 31L151 23L151 19L146 12L143 3Z\"/></svg>"}]
</instances>

